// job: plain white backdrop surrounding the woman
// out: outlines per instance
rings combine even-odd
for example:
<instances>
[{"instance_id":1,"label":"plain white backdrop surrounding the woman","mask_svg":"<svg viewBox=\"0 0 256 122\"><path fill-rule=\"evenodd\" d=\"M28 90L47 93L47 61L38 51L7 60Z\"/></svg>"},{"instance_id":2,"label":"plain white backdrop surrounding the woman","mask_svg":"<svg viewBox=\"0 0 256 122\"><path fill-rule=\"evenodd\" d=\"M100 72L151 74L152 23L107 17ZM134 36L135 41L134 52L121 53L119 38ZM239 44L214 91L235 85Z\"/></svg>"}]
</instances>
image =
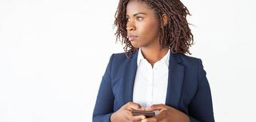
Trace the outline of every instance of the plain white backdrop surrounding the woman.
<instances>
[{"instance_id":1,"label":"plain white backdrop surrounding the woman","mask_svg":"<svg viewBox=\"0 0 256 122\"><path fill-rule=\"evenodd\" d=\"M182 0L218 122L256 121L252 0ZM118 1L0 0L0 121L89 122Z\"/></svg>"}]
</instances>

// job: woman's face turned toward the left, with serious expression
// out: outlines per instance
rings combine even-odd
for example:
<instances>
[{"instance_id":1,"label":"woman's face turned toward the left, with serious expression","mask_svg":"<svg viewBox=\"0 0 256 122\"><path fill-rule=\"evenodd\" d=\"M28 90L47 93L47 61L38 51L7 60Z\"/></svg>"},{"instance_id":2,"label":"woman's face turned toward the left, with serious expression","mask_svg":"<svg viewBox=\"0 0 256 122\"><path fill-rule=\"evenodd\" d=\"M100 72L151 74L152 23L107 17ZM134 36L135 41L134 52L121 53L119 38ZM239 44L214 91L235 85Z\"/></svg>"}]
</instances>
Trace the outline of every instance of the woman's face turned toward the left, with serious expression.
<instances>
[{"instance_id":1,"label":"woman's face turned toward the left, with serious expression","mask_svg":"<svg viewBox=\"0 0 256 122\"><path fill-rule=\"evenodd\" d=\"M145 2L130 0L126 6L126 29L135 48L159 45L158 20Z\"/></svg>"}]
</instances>

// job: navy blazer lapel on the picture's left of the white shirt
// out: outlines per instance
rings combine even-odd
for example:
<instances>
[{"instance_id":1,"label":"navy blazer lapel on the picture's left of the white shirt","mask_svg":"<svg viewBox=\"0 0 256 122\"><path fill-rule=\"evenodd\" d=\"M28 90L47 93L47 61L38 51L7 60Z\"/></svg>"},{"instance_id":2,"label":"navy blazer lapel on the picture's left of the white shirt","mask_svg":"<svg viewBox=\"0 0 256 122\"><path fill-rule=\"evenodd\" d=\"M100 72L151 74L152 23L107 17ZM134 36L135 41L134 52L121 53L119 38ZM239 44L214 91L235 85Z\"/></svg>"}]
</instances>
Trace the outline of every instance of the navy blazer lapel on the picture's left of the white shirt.
<instances>
[{"instance_id":1,"label":"navy blazer lapel on the picture's left of the white shirt","mask_svg":"<svg viewBox=\"0 0 256 122\"><path fill-rule=\"evenodd\" d=\"M132 57L130 57L130 59L127 59L125 63L122 80L123 104L126 104L129 101L133 101L134 80L137 72L137 56L138 51L136 51Z\"/></svg>"}]
</instances>

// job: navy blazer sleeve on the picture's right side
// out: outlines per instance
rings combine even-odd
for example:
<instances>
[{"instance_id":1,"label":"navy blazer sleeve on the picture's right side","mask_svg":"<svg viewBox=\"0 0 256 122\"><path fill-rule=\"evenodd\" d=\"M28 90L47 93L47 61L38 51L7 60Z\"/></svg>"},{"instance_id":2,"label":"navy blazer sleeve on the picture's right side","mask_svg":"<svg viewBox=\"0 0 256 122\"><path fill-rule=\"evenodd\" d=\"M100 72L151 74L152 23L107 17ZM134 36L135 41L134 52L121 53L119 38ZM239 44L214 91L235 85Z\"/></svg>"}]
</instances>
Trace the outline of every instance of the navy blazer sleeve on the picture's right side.
<instances>
[{"instance_id":1,"label":"navy blazer sleeve on the picture's right side","mask_svg":"<svg viewBox=\"0 0 256 122\"><path fill-rule=\"evenodd\" d=\"M210 85L199 59L198 89L189 105L190 122L214 122L213 104Z\"/></svg>"}]
</instances>

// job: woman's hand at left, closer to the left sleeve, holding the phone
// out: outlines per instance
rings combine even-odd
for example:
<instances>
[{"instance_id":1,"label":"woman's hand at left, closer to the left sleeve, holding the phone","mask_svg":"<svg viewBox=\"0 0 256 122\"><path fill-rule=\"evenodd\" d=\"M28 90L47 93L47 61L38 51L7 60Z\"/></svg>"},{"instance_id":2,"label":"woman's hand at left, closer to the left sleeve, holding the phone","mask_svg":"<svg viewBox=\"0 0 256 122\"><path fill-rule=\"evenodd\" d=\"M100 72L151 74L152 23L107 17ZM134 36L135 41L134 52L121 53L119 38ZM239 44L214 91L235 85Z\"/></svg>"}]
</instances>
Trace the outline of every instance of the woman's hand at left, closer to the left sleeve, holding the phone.
<instances>
[{"instance_id":1,"label":"woman's hand at left, closer to the left sleeve, holding the phone","mask_svg":"<svg viewBox=\"0 0 256 122\"><path fill-rule=\"evenodd\" d=\"M141 105L136 104L134 102L128 102L127 104L123 105L117 112L114 112L110 116L111 122L137 122L142 121L146 118L146 116L133 116L131 114L131 110L145 110L142 108Z\"/></svg>"}]
</instances>

